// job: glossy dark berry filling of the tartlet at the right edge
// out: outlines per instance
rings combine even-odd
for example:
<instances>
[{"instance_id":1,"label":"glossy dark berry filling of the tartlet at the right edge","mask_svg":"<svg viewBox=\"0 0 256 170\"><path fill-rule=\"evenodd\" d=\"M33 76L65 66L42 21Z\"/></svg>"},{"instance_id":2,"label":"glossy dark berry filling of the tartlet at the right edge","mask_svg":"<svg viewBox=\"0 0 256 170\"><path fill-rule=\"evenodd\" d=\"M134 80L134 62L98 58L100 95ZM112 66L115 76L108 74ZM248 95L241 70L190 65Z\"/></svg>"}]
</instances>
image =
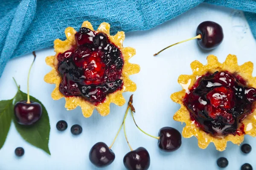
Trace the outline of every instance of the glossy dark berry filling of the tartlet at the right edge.
<instances>
[{"instance_id":1,"label":"glossy dark berry filling of the tartlet at the right edge","mask_svg":"<svg viewBox=\"0 0 256 170\"><path fill-rule=\"evenodd\" d=\"M227 71L198 78L183 100L190 118L212 135L244 133L239 123L253 112L255 101L256 89Z\"/></svg>"}]
</instances>

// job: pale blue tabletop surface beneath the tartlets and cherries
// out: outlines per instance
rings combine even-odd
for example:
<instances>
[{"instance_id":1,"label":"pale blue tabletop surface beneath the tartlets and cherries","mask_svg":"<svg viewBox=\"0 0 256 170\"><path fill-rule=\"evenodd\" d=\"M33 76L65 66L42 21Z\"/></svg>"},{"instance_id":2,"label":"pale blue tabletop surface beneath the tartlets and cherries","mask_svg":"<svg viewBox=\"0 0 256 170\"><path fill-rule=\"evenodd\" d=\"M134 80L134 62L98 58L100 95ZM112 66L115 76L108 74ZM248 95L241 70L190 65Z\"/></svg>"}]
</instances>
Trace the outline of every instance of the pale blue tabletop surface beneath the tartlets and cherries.
<instances>
[{"instance_id":1,"label":"pale blue tabletop surface beneath the tartlets and cherries","mask_svg":"<svg viewBox=\"0 0 256 170\"><path fill-rule=\"evenodd\" d=\"M224 30L224 41L212 51L201 51L196 40L172 47L158 57L152 54L172 43L195 36L199 23L211 20L219 23ZM63 30L64 34L64 30ZM137 83L134 92L135 119L146 132L158 134L164 126L177 128L181 132L184 125L172 119L173 114L180 107L172 102L170 95L180 91L177 83L180 74L191 74L190 63L197 59L206 63L209 54L216 55L221 62L228 54L236 54L241 65L244 62L256 63L256 40L243 17L242 12L229 8L222 8L208 4L201 4L192 10L148 31L136 31L126 34L124 46L136 48L137 54L131 62L141 67L139 74L131 76ZM45 57L54 55L53 48L36 51L37 59L32 68L30 94L44 103L49 113L51 131L49 149L51 156L26 143L17 133L13 123L0 150L0 170L96 170L89 159L90 148L96 142L111 144L116 131L125 114L126 104L118 107L111 104L111 113L101 117L96 111L93 116L86 119L80 108L66 111L64 99L54 101L50 94L54 85L44 82L44 75L51 68L44 62ZM21 90L26 92L26 79L32 54L11 60L0 78L0 99L11 99L16 93L12 80L15 77ZM256 72L253 72L256 76ZM128 100L131 93L125 93ZM58 132L55 125L58 120L64 119L68 129L63 133ZM80 136L72 136L70 127L79 124L83 127ZM253 150L248 155L243 155L240 147L229 142L224 152L215 150L213 144L205 150L198 148L197 139L183 138L179 150L173 153L162 153L157 147L157 140L145 136L134 125L131 115L127 117L127 135L131 146L145 147L151 156L150 170L215 170L218 169L216 160L227 157L229 165L225 170L240 170L242 164L248 162L256 168L256 139L245 137L245 142L251 144ZM23 147L25 155L17 158L14 154L16 147ZM118 136L112 147L116 154L115 161L106 170L123 170L123 156L129 151L125 142L123 131Z\"/></svg>"}]
</instances>

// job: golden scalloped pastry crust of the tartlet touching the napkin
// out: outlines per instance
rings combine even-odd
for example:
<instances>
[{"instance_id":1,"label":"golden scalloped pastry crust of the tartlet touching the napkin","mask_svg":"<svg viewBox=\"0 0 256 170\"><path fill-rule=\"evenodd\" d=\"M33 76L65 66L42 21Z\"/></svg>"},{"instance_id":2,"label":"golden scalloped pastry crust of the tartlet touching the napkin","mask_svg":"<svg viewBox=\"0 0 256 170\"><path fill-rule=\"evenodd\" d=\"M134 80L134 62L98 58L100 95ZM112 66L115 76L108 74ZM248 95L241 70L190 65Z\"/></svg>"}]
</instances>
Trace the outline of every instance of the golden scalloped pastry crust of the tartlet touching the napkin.
<instances>
[{"instance_id":1,"label":"golden scalloped pastry crust of the tartlet touching the napkin","mask_svg":"<svg viewBox=\"0 0 256 170\"><path fill-rule=\"evenodd\" d=\"M89 28L94 31L93 26L90 22L84 21L81 27ZM132 64L128 60L136 54L134 48L123 47L122 42L125 40L125 33L123 31L118 31L116 35L110 35L110 25L108 23L101 23L99 28L95 31L103 32L108 35L109 40L112 44L116 45L123 56L124 65L122 68L121 79L123 80L123 87L121 90L118 90L114 93L108 94L105 102L102 102L98 105L93 105L92 103L86 101L81 96L71 96L66 97L59 91L59 85L62 81L61 75L58 73L57 65L57 55L63 53L67 50L70 50L74 45L76 45L75 34L76 30L72 27L68 27L65 30L66 40L55 40L54 41L54 50L56 52L55 56L48 56L45 61L47 65L52 67L52 71L45 75L44 81L50 84L55 84L55 89L52 91L52 99L58 100L65 98L66 104L65 108L67 110L73 110L76 107L80 106L84 117L90 117L93 113L93 110L96 109L101 116L106 116L110 112L110 103L114 103L118 106L125 104L125 99L122 96L122 92L125 91L136 91L136 84L129 79L129 76L132 74L137 74L140 72L140 66L137 64Z\"/></svg>"}]
</instances>

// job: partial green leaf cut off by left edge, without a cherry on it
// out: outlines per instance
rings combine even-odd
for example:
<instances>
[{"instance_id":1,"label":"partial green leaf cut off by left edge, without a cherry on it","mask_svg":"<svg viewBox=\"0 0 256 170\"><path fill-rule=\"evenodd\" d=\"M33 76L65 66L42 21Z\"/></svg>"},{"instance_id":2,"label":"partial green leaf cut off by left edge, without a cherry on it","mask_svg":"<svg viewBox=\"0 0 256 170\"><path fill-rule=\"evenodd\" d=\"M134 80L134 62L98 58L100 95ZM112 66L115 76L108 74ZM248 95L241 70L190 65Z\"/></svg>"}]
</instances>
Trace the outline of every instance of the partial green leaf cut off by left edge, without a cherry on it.
<instances>
[{"instance_id":1,"label":"partial green leaf cut off by left edge, without a cherry on it","mask_svg":"<svg viewBox=\"0 0 256 170\"><path fill-rule=\"evenodd\" d=\"M0 149L6 141L9 132L13 111L13 99L0 101Z\"/></svg>"}]
</instances>

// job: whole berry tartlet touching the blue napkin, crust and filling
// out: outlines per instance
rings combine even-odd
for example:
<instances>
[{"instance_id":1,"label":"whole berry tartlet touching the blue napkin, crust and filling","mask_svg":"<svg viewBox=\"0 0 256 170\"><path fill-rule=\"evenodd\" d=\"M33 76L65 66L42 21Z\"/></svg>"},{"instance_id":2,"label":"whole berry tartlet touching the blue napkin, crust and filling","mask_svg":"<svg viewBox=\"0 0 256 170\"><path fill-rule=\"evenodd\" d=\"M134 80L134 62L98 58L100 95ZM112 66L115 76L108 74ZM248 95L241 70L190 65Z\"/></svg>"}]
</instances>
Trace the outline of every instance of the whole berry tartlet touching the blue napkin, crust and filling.
<instances>
[{"instance_id":1,"label":"whole berry tartlet touching the blue napkin, crust and filling","mask_svg":"<svg viewBox=\"0 0 256 170\"><path fill-rule=\"evenodd\" d=\"M123 47L123 31L111 36L110 25L101 23L94 31L85 21L77 32L68 27L67 40L55 40L55 56L46 58L52 67L44 81L56 84L52 99L65 98L67 110L81 107L84 117L90 117L93 110L102 116L110 112L110 103L122 106L125 99L122 92L135 91L136 84L129 75L140 71L140 66L128 60L135 49Z\"/></svg>"}]
</instances>

